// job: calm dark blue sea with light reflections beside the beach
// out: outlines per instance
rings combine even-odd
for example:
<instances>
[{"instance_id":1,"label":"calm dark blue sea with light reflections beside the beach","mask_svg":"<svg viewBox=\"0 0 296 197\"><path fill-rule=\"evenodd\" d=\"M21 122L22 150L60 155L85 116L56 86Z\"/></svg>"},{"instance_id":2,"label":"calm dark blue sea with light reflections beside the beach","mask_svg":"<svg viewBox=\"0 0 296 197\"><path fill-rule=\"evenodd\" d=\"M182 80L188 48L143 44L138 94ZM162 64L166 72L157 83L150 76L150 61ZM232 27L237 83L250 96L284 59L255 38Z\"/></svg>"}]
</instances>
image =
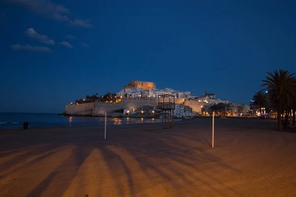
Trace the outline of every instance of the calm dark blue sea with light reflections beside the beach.
<instances>
[{"instance_id":1,"label":"calm dark blue sea with light reflections beside the beach","mask_svg":"<svg viewBox=\"0 0 296 197\"><path fill-rule=\"evenodd\" d=\"M69 117L57 116L46 113L0 113L0 129L23 128L23 122L29 122L29 129L36 127L60 127L60 126L95 126L104 125L105 117ZM158 123L157 118L107 118L108 124L138 124Z\"/></svg>"}]
</instances>

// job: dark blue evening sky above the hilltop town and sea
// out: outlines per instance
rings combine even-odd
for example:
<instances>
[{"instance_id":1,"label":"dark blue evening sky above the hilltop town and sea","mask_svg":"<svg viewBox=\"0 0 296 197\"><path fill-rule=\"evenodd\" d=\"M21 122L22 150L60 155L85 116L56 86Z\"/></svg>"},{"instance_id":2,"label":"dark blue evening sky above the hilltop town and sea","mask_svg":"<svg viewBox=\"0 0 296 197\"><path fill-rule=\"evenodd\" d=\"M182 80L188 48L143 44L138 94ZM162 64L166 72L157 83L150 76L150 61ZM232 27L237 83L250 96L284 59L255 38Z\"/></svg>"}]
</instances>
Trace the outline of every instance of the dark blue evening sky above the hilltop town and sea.
<instances>
[{"instance_id":1,"label":"dark blue evening sky above the hilltop town and sea","mask_svg":"<svg viewBox=\"0 0 296 197\"><path fill-rule=\"evenodd\" d=\"M295 0L1 0L0 112L136 79L248 103L266 71L296 72L295 20Z\"/></svg>"}]
</instances>

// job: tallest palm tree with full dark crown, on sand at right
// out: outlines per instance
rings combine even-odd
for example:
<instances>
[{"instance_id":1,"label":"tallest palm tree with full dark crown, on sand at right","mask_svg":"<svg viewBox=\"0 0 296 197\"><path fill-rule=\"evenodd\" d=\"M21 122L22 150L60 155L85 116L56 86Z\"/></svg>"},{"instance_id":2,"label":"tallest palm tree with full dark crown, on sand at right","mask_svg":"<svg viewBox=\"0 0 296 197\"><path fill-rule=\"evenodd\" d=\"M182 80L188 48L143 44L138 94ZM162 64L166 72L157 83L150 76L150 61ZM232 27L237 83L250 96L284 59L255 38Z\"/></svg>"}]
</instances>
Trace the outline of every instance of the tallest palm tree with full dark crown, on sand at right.
<instances>
[{"instance_id":1,"label":"tallest palm tree with full dark crown, on sand at right","mask_svg":"<svg viewBox=\"0 0 296 197\"><path fill-rule=\"evenodd\" d=\"M293 105L293 99L296 98L296 77L295 73L288 70L273 70L273 73L267 72L268 76L262 80L261 86L267 86L264 90L269 102L276 106L278 111L278 130L282 131L282 118L284 109Z\"/></svg>"}]
</instances>

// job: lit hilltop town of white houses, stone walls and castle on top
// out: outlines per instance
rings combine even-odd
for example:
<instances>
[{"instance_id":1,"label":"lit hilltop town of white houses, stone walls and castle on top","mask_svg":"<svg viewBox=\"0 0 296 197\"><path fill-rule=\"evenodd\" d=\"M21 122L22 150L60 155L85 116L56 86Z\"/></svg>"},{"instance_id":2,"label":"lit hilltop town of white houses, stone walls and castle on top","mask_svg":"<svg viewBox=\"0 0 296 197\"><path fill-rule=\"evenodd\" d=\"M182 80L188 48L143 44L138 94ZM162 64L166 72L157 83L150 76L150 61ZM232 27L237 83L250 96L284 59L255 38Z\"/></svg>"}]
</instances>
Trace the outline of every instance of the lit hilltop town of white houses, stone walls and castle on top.
<instances>
[{"instance_id":1,"label":"lit hilltop town of white houses, stone walls and castle on top","mask_svg":"<svg viewBox=\"0 0 296 197\"><path fill-rule=\"evenodd\" d=\"M102 116L122 114L125 116L156 117L161 114L157 109L158 98L161 95L174 96L175 116L192 118L193 116L251 116L250 106L230 102L227 99L216 98L214 93L196 96L189 91L178 91L171 88L157 89L155 83L147 81L130 81L117 93L86 96L66 105L65 114L77 116Z\"/></svg>"}]
</instances>

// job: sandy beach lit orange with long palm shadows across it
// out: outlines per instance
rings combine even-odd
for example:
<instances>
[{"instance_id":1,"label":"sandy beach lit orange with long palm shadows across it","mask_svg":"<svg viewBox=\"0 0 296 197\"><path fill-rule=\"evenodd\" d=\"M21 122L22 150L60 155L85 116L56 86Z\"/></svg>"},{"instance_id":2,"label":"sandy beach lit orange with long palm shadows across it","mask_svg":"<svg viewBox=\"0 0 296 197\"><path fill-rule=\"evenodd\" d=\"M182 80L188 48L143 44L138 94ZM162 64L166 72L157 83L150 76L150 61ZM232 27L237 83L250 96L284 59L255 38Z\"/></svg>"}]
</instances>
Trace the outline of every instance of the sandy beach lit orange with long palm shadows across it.
<instances>
[{"instance_id":1,"label":"sandy beach lit orange with long palm shadows across it","mask_svg":"<svg viewBox=\"0 0 296 197\"><path fill-rule=\"evenodd\" d=\"M211 121L0 131L0 196L296 196L296 133Z\"/></svg>"}]
</instances>

